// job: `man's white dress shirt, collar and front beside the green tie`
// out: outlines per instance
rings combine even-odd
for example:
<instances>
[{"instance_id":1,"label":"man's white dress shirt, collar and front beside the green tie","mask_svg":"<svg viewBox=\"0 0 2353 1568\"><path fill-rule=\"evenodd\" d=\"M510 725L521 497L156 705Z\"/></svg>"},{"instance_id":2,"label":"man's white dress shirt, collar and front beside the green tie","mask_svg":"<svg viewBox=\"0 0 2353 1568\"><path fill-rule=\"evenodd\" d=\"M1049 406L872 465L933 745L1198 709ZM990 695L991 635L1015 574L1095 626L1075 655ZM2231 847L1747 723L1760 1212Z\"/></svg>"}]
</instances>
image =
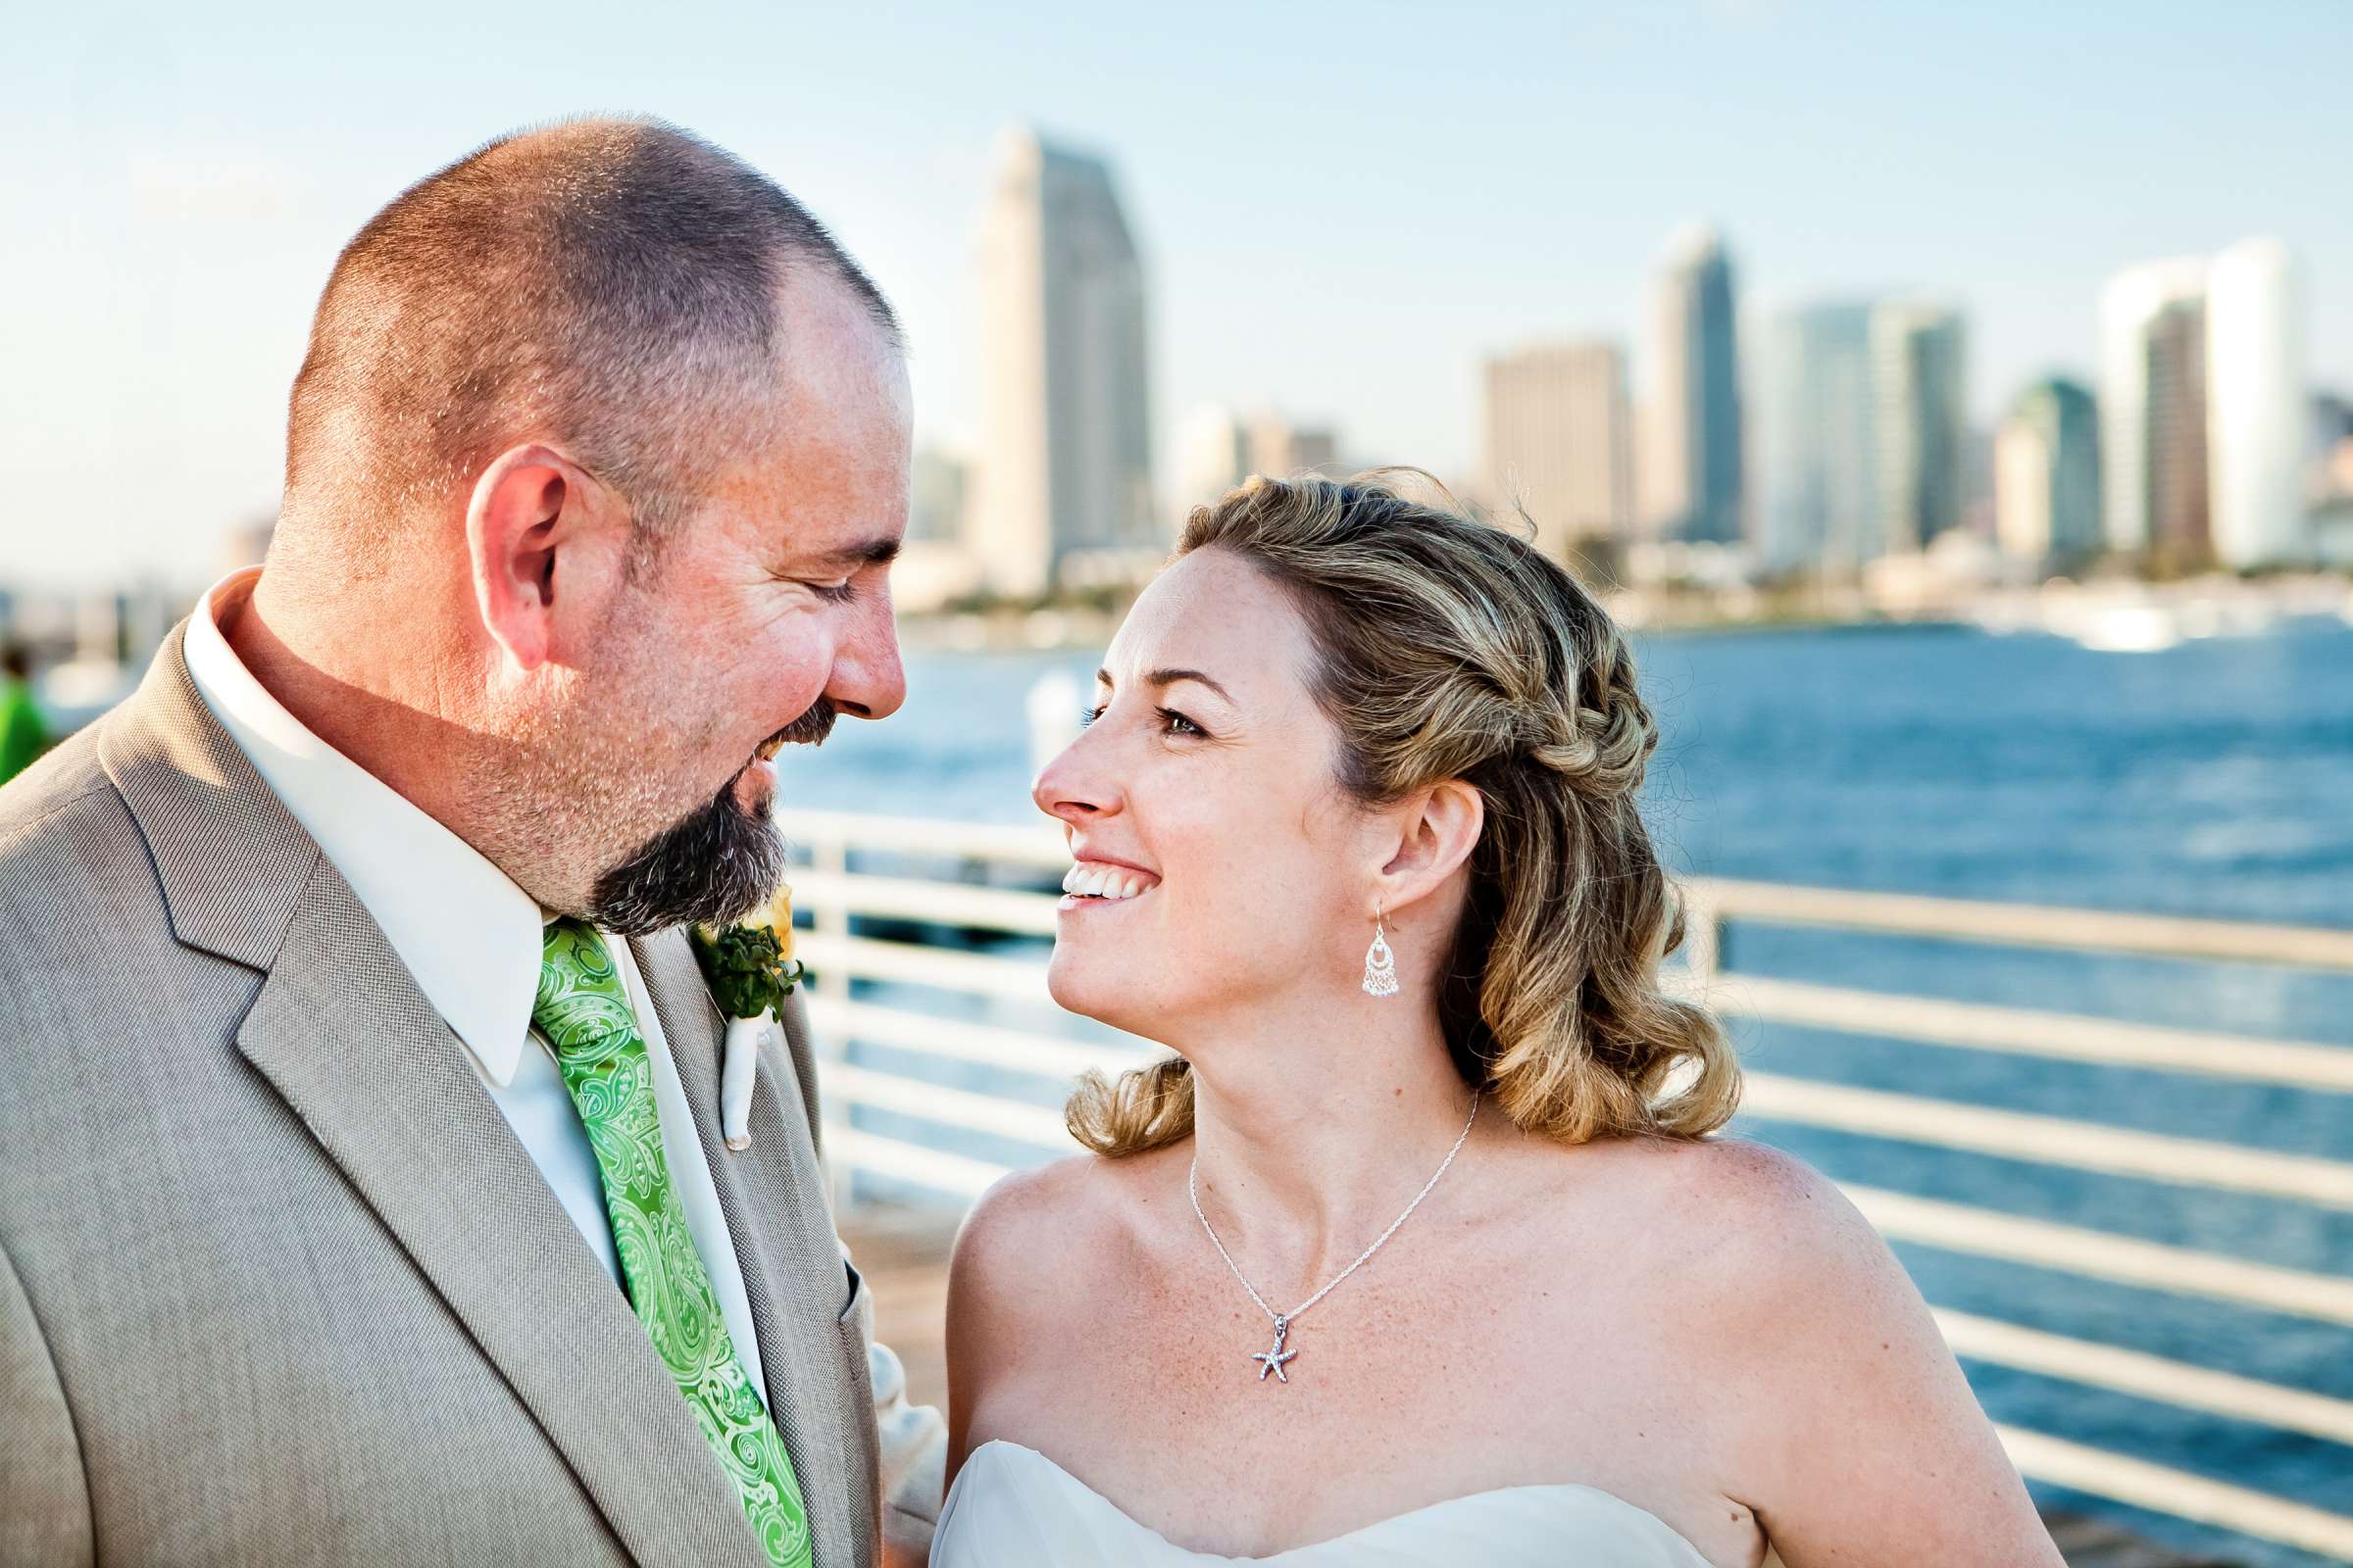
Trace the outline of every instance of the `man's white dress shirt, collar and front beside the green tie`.
<instances>
[{"instance_id":1,"label":"man's white dress shirt, collar and front beside the green tie","mask_svg":"<svg viewBox=\"0 0 2353 1568\"><path fill-rule=\"evenodd\" d=\"M546 1037L532 1027L548 917L466 839L313 736L264 691L219 625L221 611L240 607L256 581L261 581L259 567L233 571L195 607L188 621L188 677L261 780L360 896L360 905L409 966L426 1001L466 1041L466 1060L482 1077L506 1124L515 1128L522 1150L579 1225L581 1239L602 1260L605 1272L621 1284L595 1152L588 1147L588 1133L572 1107ZM765 1403L767 1380L760 1375L760 1338L753 1333L751 1300L744 1295L744 1269L736 1265L727 1218L720 1213L718 1187L711 1185L704 1145L694 1135L687 1091L678 1081L671 1044L645 997L645 980L628 943L605 936L605 945L628 987L628 1004L652 1063L671 1187L687 1211L687 1232L711 1274L727 1335ZM706 1110L718 1114L715 1105ZM889 1371L896 1373L896 1366Z\"/></svg>"}]
</instances>

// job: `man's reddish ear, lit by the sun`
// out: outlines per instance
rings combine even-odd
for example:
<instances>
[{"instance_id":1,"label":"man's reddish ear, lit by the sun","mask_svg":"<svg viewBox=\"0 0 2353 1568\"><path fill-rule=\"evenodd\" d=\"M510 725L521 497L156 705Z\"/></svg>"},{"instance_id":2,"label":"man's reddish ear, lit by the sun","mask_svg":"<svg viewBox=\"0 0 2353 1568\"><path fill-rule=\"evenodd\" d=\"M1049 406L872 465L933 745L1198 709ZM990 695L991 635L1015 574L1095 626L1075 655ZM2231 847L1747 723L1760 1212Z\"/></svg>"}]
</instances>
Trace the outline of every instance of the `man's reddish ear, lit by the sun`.
<instances>
[{"instance_id":1,"label":"man's reddish ear, lit by the sun","mask_svg":"<svg viewBox=\"0 0 2353 1568\"><path fill-rule=\"evenodd\" d=\"M553 447L501 451L466 503L466 555L482 630L522 672L555 656L565 621L607 590L609 496ZM626 524L624 524L626 531Z\"/></svg>"}]
</instances>

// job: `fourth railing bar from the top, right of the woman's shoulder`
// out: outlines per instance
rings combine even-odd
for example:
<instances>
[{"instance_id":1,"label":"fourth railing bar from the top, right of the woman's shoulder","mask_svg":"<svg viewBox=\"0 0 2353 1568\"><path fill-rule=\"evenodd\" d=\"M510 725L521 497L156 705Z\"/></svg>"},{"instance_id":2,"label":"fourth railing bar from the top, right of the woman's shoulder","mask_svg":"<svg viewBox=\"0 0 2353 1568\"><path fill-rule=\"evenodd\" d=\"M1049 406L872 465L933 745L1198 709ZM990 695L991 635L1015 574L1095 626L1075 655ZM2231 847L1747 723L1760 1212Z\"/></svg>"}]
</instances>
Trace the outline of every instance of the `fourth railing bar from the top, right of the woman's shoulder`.
<instances>
[{"instance_id":1,"label":"fourth railing bar from the top, right of the woman's shoulder","mask_svg":"<svg viewBox=\"0 0 2353 1568\"><path fill-rule=\"evenodd\" d=\"M1840 1190L1873 1229L1897 1241L2353 1328L2353 1279L2341 1274L2282 1269L1885 1187L1840 1182Z\"/></svg>"}]
</instances>

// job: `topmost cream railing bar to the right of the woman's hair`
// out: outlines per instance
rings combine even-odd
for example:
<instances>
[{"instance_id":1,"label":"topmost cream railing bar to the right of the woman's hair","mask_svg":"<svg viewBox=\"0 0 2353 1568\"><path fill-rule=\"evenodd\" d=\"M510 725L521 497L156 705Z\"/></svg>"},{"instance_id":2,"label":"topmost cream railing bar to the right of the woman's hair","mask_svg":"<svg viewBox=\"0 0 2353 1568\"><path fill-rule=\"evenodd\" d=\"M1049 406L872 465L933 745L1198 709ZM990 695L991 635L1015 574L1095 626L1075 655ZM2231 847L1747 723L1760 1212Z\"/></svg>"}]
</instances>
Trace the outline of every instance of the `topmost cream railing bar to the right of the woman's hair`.
<instances>
[{"instance_id":1,"label":"topmost cream railing bar to the right of the woman's hair","mask_svg":"<svg viewBox=\"0 0 2353 1568\"><path fill-rule=\"evenodd\" d=\"M1988 947L2068 947L2353 971L2353 931L2327 926L2273 926L2240 919L2129 914L1925 893L1866 893L1715 877L1694 877L1685 889L1692 914L1713 914L1715 919L1944 938Z\"/></svg>"}]
</instances>

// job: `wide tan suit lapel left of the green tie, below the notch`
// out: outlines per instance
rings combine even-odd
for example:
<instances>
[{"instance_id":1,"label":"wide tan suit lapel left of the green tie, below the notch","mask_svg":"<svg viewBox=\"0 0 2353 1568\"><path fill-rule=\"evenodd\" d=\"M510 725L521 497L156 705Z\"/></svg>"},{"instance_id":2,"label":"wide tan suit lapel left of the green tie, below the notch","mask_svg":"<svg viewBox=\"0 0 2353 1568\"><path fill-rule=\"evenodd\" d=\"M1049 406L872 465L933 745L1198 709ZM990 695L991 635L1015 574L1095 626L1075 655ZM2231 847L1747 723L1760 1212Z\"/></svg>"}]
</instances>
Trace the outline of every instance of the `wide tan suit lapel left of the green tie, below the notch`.
<instances>
[{"instance_id":1,"label":"wide tan suit lapel left of the green tie, below the notch","mask_svg":"<svg viewBox=\"0 0 2353 1568\"><path fill-rule=\"evenodd\" d=\"M341 1166L647 1568L762 1563L612 1276L320 860L238 1048Z\"/></svg>"}]
</instances>

